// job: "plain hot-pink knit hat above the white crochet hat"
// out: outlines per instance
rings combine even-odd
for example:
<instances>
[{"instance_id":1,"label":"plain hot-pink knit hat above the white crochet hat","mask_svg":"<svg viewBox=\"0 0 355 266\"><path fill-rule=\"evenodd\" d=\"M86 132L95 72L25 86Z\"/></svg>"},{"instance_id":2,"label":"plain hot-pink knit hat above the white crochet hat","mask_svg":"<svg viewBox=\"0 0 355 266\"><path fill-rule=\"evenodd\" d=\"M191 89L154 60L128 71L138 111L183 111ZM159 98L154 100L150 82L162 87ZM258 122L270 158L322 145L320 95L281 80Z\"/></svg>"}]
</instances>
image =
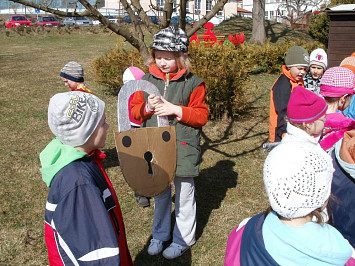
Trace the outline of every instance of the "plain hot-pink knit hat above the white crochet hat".
<instances>
[{"instance_id":1,"label":"plain hot-pink knit hat above the white crochet hat","mask_svg":"<svg viewBox=\"0 0 355 266\"><path fill-rule=\"evenodd\" d=\"M321 118L328 109L325 100L301 86L292 90L287 105L287 116L293 123L311 123Z\"/></svg>"}]
</instances>

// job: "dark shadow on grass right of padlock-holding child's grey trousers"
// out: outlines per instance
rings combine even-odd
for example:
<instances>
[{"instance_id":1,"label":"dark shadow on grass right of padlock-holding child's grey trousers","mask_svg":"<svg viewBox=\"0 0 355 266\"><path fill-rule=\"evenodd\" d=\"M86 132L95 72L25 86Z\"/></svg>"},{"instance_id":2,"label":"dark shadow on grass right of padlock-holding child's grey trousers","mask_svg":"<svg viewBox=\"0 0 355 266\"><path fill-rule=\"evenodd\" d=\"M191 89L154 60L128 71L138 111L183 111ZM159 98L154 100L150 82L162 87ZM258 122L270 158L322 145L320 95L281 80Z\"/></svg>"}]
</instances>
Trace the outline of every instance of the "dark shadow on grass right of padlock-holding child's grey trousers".
<instances>
[{"instance_id":1,"label":"dark shadow on grass right of padlock-holding child's grey trousers","mask_svg":"<svg viewBox=\"0 0 355 266\"><path fill-rule=\"evenodd\" d=\"M201 237L212 211L221 206L228 189L237 186L238 173L233 170L234 165L233 161L221 160L215 166L202 170L195 179L196 240Z\"/></svg>"}]
</instances>

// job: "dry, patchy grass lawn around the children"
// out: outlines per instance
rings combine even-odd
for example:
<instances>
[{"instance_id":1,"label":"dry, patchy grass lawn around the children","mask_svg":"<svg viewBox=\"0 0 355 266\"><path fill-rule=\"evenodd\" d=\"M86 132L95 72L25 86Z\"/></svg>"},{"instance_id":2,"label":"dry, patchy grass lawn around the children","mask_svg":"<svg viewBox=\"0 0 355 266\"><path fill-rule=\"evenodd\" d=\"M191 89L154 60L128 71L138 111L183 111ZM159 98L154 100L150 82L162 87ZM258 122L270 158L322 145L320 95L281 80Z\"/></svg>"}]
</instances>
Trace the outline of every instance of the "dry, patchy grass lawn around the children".
<instances>
[{"instance_id":1,"label":"dry, patchy grass lawn around the children","mask_svg":"<svg viewBox=\"0 0 355 266\"><path fill-rule=\"evenodd\" d=\"M48 265L44 209L48 188L41 180L39 153L53 138L47 125L52 95L67 91L59 71L68 61L85 70L116 45L109 33L32 34L0 32L0 264ZM108 123L117 130L117 97L88 86L106 102ZM118 166L113 133L103 150L106 169L121 203L135 265L222 265L229 232L245 217L267 207L262 182L267 141L268 97L275 75L254 76L250 108L242 117L208 122L203 129L203 162L196 178L197 243L181 258L151 257L153 207L139 208Z\"/></svg>"}]
</instances>

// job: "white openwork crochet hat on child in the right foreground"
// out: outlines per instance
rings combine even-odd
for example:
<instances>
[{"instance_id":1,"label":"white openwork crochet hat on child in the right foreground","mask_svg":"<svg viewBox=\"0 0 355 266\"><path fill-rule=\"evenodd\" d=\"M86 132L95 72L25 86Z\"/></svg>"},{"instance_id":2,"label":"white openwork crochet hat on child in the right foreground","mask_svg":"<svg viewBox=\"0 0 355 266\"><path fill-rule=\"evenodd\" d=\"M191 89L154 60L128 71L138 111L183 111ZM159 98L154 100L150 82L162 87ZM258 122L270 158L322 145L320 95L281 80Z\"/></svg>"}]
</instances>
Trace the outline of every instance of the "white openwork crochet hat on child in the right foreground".
<instances>
[{"instance_id":1,"label":"white openwork crochet hat on child in the right foreground","mask_svg":"<svg viewBox=\"0 0 355 266\"><path fill-rule=\"evenodd\" d=\"M311 143L282 143L264 164L271 208L284 218L304 217L322 207L329 198L332 178L330 156Z\"/></svg>"}]
</instances>

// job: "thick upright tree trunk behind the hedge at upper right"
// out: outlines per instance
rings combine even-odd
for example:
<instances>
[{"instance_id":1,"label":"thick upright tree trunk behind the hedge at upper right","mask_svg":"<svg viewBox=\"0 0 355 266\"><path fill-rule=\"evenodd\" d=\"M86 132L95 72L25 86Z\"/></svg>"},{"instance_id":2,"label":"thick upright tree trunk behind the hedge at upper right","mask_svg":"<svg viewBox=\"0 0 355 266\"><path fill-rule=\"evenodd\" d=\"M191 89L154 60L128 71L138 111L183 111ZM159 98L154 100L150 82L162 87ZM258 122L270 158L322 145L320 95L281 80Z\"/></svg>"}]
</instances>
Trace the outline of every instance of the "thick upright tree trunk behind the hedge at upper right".
<instances>
[{"instance_id":1,"label":"thick upright tree trunk behind the hedge at upper right","mask_svg":"<svg viewBox=\"0 0 355 266\"><path fill-rule=\"evenodd\" d=\"M250 42L264 43L265 40L265 0L253 0L253 30Z\"/></svg>"}]
</instances>

